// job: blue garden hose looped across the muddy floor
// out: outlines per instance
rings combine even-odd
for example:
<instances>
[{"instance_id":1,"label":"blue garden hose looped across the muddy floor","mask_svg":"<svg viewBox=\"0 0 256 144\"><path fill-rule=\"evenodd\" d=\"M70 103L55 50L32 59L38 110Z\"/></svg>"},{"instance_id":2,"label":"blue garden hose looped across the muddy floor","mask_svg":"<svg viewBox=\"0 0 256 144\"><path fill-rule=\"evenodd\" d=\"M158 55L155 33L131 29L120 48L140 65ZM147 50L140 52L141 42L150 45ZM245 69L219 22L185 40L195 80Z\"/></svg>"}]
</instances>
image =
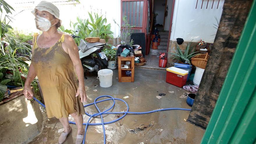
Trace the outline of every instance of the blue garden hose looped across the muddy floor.
<instances>
[{"instance_id":1,"label":"blue garden hose looped across the muddy floor","mask_svg":"<svg viewBox=\"0 0 256 144\"><path fill-rule=\"evenodd\" d=\"M99 98L101 98L101 97L109 97L109 99L103 99L103 100L97 101L97 99L99 99ZM34 99L35 101L37 101L39 104L41 104L42 106L45 107L45 105L42 104L38 99L36 99L35 97L33 97L33 99ZM113 100L113 105L112 105L109 109L107 109L107 110L101 112L101 111L99 110L98 106L97 106L97 103L99 103L99 102L104 102L104 101L107 101L107 100ZM115 100L120 100L120 101L124 102L124 103L126 104L126 106L127 106L127 110L124 111L124 112L107 112L107 111L109 111L110 109L112 109L112 108L115 106ZM96 102L96 101L97 101L97 102ZM95 105L95 107L96 107L96 109L97 109L97 111L98 111L99 113L94 113L93 115L90 115L90 114L88 114L88 113L85 113L85 114L88 115L90 118L88 119L87 123L83 123L83 125L86 125L86 127L85 127L85 134L84 134L84 138L83 138L83 144L85 143L85 138L86 138L86 132L87 132L88 125L102 125L103 134L104 134L104 144L106 144L106 134L105 134L105 127L104 127L104 125L107 125L107 124L110 124L110 123L113 123L113 122L117 122L118 120L120 120L120 119L122 119L123 117L125 117L125 115L127 115L127 113L128 113L128 114L147 114L147 113L154 113L154 112L157 112L157 111L166 111L166 110L184 110L184 111L190 111L190 110L191 110L191 109L183 109L183 108L166 108L166 109L158 109L158 110L146 111L146 112L129 112L129 106L128 106L128 104L127 104L124 100L118 99L118 98L113 98L113 97L111 97L111 96L109 96L109 95L102 95L102 96L99 96L99 97L97 97L97 98L94 100L93 103L86 104L86 105L84 105L83 107L90 106L90 105L93 105L93 104ZM102 118L102 115L106 115L106 114L124 114L124 115L122 115L121 117L119 117L119 118L116 119L116 120L112 120L112 121L110 121L110 122L104 122L104 121L103 121L103 118ZM99 115L100 115L100 118L101 118L101 123L89 123L89 121L90 121L91 118L97 117L97 116L99 116ZM72 122L72 121L69 121L69 123L71 123L71 124L76 124L75 122Z\"/></svg>"}]
</instances>

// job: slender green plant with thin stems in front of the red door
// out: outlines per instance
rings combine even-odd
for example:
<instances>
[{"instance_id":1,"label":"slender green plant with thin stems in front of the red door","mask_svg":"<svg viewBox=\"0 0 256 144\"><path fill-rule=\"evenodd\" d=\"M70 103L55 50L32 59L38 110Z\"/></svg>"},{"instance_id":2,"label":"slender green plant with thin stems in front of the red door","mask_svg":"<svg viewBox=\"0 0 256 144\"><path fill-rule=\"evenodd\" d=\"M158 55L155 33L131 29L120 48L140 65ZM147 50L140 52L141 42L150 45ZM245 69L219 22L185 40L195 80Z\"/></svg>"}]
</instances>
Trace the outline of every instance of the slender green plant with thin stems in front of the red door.
<instances>
[{"instance_id":1,"label":"slender green plant with thin stems in front of the red door","mask_svg":"<svg viewBox=\"0 0 256 144\"><path fill-rule=\"evenodd\" d=\"M117 24L119 26L119 24L115 21L115 19L113 19L113 21L115 22L115 24ZM125 22L125 24L122 25L122 27L119 26L120 30L121 30L121 44L122 45L133 45L133 40L131 40L131 34L133 33L132 28L134 27L133 25L129 24L128 19L126 16L123 17L123 21Z\"/></svg>"}]
</instances>

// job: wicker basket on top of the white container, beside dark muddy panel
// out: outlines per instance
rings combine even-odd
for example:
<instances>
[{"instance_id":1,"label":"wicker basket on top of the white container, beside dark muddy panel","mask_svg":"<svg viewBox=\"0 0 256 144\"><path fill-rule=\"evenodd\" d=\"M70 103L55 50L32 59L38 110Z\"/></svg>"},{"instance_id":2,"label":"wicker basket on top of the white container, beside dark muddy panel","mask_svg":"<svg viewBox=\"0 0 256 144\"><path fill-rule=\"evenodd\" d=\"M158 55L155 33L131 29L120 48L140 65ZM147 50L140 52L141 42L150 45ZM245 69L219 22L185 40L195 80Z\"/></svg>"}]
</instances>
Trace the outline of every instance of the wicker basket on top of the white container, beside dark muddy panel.
<instances>
[{"instance_id":1,"label":"wicker basket on top of the white container, beside dark muddy panel","mask_svg":"<svg viewBox=\"0 0 256 144\"><path fill-rule=\"evenodd\" d=\"M196 67L205 69L207 61L208 61L209 55L208 53L206 54L199 54L197 56L194 56L191 58L191 63L195 65Z\"/></svg>"}]
</instances>

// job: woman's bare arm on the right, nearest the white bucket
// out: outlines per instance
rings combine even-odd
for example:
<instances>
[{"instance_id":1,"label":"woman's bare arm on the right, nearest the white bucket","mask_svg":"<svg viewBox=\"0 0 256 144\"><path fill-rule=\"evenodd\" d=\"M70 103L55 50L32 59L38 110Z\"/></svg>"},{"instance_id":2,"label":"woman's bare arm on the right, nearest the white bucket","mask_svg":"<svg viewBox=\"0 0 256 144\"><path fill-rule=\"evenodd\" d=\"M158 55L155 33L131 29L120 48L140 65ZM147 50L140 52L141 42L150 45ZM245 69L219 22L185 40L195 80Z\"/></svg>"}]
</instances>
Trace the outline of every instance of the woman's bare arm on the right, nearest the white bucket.
<instances>
[{"instance_id":1,"label":"woman's bare arm on the right, nearest the white bucket","mask_svg":"<svg viewBox=\"0 0 256 144\"><path fill-rule=\"evenodd\" d=\"M83 67L82 67L82 63L79 58L77 45L70 35L65 34L65 40L64 40L62 46L63 46L63 49L67 50L67 53L69 54L69 56L72 60L72 63L74 65L74 68L76 70L76 73L77 73L77 77L78 77L78 81L79 81L79 89L77 90L76 96L78 96L80 94L81 102L86 102L87 96L85 93L84 81L83 81L84 80L83 79Z\"/></svg>"}]
</instances>

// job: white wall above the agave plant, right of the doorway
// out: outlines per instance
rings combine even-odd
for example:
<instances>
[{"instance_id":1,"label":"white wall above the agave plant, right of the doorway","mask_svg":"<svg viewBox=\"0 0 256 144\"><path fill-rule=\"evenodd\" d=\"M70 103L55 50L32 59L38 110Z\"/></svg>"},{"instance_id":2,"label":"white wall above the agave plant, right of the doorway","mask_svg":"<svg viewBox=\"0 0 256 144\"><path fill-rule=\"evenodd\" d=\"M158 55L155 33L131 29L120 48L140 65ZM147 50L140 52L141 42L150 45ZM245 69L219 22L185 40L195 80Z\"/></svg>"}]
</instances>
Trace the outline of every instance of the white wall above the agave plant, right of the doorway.
<instances>
[{"instance_id":1,"label":"white wall above the agave plant, right of the doorway","mask_svg":"<svg viewBox=\"0 0 256 144\"><path fill-rule=\"evenodd\" d=\"M207 9L207 1L204 1L201 9L202 0L198 0L197 9L195 9L196 1L175 1L170 40L183 38L184 41L191 41L193 39L193 42L198 42L202 38L205 42L214 42L217 32L217 29L213 27L213 24L217 24L214 17L221 18L224 0L220 1L218 9L218 1L214 1L213 9L211 9L212 0L209 0Z\"/></svg>"}]
</instances>

